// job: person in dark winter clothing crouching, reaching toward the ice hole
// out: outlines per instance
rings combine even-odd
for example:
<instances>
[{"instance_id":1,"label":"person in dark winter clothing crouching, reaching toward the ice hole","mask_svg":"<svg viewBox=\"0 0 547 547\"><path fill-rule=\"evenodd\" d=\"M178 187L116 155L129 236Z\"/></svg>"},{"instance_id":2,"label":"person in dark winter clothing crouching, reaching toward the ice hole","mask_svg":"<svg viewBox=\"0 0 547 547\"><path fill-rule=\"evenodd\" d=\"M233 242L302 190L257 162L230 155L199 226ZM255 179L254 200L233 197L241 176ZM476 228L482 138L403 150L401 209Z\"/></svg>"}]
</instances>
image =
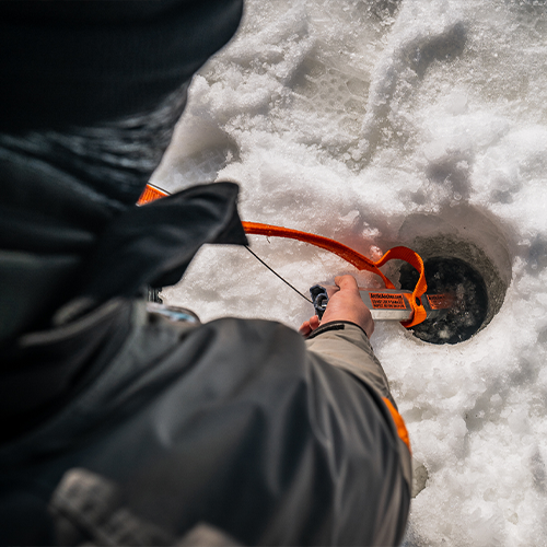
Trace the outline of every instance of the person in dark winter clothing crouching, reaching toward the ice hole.
<instances>
[{"instance_id":1,"label":"person in dark winter clothing crouching, reaching toward the ice hole","mask_svg":"<svg viewBox=\"0 0 547 547\"><path fill-rule=\"evenodd\" d=\"M246 243L234 184L135 206L241 1L77 4L0 8L0 542L399 543L410 455L353 278L307 340L141 295Z\"/></svg>"}]
</instances>

